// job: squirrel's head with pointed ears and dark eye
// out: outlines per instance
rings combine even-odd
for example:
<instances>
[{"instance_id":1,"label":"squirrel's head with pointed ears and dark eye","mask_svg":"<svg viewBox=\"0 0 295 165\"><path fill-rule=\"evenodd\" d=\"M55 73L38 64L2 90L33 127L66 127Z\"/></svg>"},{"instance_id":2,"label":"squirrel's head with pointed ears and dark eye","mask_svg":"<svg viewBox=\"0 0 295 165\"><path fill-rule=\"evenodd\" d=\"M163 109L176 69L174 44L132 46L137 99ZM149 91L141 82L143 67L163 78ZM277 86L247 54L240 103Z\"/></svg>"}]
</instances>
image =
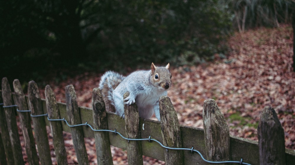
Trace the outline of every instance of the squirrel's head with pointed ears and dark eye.
<instances>
[{"instance_id":1,"label":"squirrel's head with pointed ears and dark eye","mask_svg":"<svg viewBox=\"0 0 295 165\"><path fill-rule=\"evenodd\" d=\"M168 70L170 64L168 63L165 67L156 67L152 63L150 81L155 87L160 90L168 90L171 86L171 73Z\"/></svg>"}]
</instances>

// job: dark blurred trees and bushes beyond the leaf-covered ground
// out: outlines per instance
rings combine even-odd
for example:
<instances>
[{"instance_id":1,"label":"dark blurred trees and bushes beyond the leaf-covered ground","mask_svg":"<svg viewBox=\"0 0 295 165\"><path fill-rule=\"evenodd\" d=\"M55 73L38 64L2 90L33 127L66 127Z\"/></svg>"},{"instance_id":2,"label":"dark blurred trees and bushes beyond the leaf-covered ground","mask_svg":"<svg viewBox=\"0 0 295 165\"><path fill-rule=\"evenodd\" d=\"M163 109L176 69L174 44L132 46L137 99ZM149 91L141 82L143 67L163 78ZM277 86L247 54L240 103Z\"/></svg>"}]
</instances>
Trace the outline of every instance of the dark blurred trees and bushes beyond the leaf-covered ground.
<instances>
[{"instance_id":1,"label":"dark blurred trees and bushes beyond the leaf-covered ground","mask_svg":"<svg viewBox=\"0 0 295 165\"><path fill-rule=\"evenodd\" d=\"M294 0L0 3L0 77L21 82L224 58L234 31L291 23L295 7Z\"/></svg>"}]
</instances>

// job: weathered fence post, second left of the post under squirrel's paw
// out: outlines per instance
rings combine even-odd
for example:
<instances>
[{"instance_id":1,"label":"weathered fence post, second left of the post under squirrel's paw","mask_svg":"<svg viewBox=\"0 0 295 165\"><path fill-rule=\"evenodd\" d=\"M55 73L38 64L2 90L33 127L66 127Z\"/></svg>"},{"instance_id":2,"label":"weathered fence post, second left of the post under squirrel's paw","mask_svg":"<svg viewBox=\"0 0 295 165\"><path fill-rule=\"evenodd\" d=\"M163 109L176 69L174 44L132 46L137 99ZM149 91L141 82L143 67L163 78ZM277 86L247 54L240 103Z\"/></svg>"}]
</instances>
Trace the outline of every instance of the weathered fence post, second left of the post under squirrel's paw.
<instances>
[{"instance_id":1,"label":"weathered fence post, second left of the post under squirrel's paw","mask_svg":"<svg viewBox=\"0 0 295 165\"><path fill-rule=\"evenodd\" d=\"M69 124L81 124L80 110L73 85L68 85L65 87L65 99L67 104ZM71 132L78 163L80 165L89 164L82 126L71 127Z\"/></svg>"}]
</instances>

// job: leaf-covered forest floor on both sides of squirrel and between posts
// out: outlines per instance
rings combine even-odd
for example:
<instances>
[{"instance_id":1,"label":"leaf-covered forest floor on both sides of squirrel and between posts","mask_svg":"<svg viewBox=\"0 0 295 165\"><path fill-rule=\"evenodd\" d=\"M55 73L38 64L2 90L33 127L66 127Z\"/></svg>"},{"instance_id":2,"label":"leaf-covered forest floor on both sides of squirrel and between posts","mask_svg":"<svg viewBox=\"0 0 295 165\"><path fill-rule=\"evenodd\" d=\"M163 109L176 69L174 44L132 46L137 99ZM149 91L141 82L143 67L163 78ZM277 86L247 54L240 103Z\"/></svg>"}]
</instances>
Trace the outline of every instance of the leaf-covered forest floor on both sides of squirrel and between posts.
<instances>
[{"instance_id":1,"label":"leaf-covered forest floor on both sides of squirrel and between posts","mask_svg":"<svg viewBox=\"0 0 295 165\"><path fill-rule=\"evenodd\" d=\"M230 128L230 134L258 140L257 126L264 107L271 106L285 131L286 148L295 149L295 73L292 71L293 31L257 28L229 39L227 55L197 66L173 67L168 96L179 123L203 128L204 100L214 99ZM147 64L148 69L150 64ZM47 82L60 102L65 102L65 86L73 84L79 106L91 107L92 89L103 73L84 73L57 83ZM44 97L44 88L40 89ZM155 119L155 118L153 118ZM155 119L156 120L156 119ZM50 132L50 130L48 130ZM95 164L95 144L85 138L91 163ZM65 133L68 163L76 164L71 135ZM114 164L127 164L127 151L112 147ZM144 164L165 164L144 156Z\"/></svg>"}]
</instances>

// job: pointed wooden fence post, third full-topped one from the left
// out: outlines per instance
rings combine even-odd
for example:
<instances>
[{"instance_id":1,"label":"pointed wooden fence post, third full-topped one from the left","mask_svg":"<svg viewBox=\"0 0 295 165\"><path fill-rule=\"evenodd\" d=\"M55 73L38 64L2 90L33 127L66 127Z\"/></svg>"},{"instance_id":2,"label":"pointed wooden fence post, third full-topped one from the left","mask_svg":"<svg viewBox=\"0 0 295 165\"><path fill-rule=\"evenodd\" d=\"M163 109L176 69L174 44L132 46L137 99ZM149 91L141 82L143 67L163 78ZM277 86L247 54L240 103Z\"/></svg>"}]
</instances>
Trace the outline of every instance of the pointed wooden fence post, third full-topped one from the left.
<instances>
[{"instance_id":1,"label":"pointed wooden fence post, third full-topped one from the left","mask_svg":"<svg viewBox=\"0 0 295 165\"><path fill-rule=\"evenodd\" d=\"M52 164L52 161L46 131L45 118L44 116L36 116L44 115L44 112L39 89L34 81L29 82L28 95L40 162L41 164L50 165Z\"/></svg>"}]
</instances>

